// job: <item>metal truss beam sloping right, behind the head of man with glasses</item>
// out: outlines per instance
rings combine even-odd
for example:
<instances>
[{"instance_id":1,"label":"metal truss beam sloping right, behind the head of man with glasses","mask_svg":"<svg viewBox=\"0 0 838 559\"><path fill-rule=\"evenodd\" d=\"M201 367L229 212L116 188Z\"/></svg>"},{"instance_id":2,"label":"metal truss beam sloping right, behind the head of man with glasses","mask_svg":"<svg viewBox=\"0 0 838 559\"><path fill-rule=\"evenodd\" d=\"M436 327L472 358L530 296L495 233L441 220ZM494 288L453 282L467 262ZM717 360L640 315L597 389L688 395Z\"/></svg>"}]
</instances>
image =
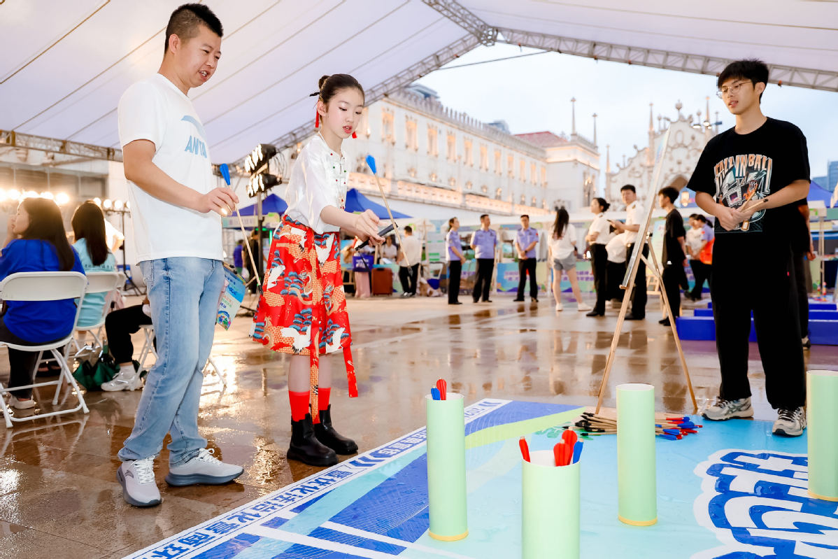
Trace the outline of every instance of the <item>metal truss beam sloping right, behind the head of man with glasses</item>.
<instances>
[{"instance_id":1,"label":"metal truss beam sloping right, behind the head of man with glasses","mask_svg":"<svg viewBox=\"0 0 838 559\"><path fill-rule=\"evenodd\" d=\"M701 54L639 49L623 44L599 43L587 39L572 39L517 29L498 28L497 32L499 43L554 50L561 54L573 54L594 60L609 60L611 62L679 70L693 74L719 75L724 67L732 62L730 59L702 56ZM771 83L823 91L838 91L838 72L767 64L771 72Z\"/></svg>"}]
</instances>

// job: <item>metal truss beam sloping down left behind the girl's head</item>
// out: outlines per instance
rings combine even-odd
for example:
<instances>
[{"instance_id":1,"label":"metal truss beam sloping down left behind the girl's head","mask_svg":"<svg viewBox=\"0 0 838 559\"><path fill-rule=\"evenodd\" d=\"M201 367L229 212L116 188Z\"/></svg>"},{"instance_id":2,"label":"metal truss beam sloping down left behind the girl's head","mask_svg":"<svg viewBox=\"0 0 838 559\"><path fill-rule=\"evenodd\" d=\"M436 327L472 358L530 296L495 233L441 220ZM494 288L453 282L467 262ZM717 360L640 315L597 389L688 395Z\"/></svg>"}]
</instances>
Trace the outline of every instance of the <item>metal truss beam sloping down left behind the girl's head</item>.
<instances>
[{"instance_id":1,"label":"metal truss beam sloping down left behind the girl's head","mask_svg":"<svg viewBox=\"0 0 838 559\"><path fill-rule=\"evenodd\" d=\"M447 47L437 50L434 54L416 62L414 65L408 66L405 70L401 70L398 74L387 78L380 84L372 86L370 89L365 91L365 101L367 104L373 103L380 100L391 91L398 91L402 87L410 85L423 75L427 75L433 70L437 70L441 66L446 65L448 62L451 62L460 54L467 53L469 50L476 48L478 44L480 44L480 41L477 37L474 35L465 35L463 38L449 44ZM302 142L305 138L311 136L312 133L312 123L310 120L307 120L304 124L301 124L300 126L294 128L291 132L278 137L271 143L277 147L277 150L282 151L284 148L290 148L296 145L297 142ZM244 158L235 162L235 165L237 166L243 164Z\"/></svg>"}]
</instances>

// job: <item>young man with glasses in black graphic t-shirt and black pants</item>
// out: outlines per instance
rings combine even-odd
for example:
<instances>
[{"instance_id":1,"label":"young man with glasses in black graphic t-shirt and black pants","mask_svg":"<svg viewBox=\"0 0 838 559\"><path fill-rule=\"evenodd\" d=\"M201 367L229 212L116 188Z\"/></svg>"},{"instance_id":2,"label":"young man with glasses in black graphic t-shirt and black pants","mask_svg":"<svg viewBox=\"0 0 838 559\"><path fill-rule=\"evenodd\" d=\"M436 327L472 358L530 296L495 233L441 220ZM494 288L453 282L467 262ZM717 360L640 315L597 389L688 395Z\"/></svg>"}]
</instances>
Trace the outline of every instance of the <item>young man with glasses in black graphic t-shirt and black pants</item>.
<instances>
[{"instance_id":1,"label":"young man with glasses in black graphic t-shirt and black pants","mask_svg":"<svg viewBox=\"0 0 838 559\"><path fill-rule=\"evenodd\" d=\"M796 202L809 193L809 155L798 127L760 110L767 84L768 66L759 60L722 71L718 95L736 127L707 142L687 185L696 204L716 216L711 297L722 386L704 416L753 416L747 381L753 311L766 395L779 411L773 432L799 436L806 394L789 229L799 220Z\"/></svg>"}]
</instances>

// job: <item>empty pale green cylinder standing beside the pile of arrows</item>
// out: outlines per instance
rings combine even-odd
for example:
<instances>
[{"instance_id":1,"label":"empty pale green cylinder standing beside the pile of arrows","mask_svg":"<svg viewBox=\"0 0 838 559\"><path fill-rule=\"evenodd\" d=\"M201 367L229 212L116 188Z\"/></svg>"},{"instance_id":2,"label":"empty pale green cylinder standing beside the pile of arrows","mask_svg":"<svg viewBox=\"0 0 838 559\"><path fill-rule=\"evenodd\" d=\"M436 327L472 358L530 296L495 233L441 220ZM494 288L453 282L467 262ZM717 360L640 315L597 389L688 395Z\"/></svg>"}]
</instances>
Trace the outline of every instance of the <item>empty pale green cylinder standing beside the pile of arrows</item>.
<instances>
[{"instance_id":1,"label":"empty pale green cylinder standing beside the pile of arrows","mask_svg":"<svg viewBox=\"0 0 838 559\"><path fill-rule=\"evenodd\" d=\"M654 458L654 386L617 386L618 518L634 526L658 521Z\"/></svg>"}]
</instances>

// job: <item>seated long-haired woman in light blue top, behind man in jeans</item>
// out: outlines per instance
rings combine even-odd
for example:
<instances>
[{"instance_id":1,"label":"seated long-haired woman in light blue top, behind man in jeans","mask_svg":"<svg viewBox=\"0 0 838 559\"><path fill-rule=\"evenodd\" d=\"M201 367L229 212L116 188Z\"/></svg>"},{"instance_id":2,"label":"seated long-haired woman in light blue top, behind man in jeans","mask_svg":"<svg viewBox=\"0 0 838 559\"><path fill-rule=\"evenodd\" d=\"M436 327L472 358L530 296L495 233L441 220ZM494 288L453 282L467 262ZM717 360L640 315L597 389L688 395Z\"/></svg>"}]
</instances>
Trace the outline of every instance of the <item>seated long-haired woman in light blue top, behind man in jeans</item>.
<instances>
[{"instance_id":1,"label":"seated long-haired woman in light blue top, behind man in jeans","mask_svg":"<svg viewBox=\"0 0 838 559\"><path fill-rule=\"evenodd\" d=\"M105 238L105 215L99 206L91 201L84 202L76 208L70 224L73 225L75 234L73 248L79 255L85 274L116 272L116 258L108 250ZM85 295L76 328L85 329L101 321L106 295L107 293Z\"/></svg>"}]
</instances>

